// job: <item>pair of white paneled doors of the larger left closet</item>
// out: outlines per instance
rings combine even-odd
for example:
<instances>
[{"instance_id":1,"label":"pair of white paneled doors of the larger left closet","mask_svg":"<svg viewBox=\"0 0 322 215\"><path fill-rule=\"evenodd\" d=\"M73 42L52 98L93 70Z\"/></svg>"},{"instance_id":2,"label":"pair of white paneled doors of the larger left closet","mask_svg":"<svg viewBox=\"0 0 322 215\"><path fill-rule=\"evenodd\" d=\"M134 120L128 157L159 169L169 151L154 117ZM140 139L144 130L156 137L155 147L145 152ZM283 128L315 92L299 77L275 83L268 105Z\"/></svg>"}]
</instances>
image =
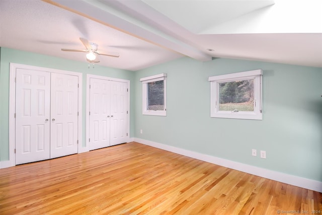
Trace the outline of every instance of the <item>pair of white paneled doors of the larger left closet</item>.
<instances>
[{"instance_id":1,"label":"pair of white paneled doors of the larger left closet","mask_svg":"<svg viewBox=\"0 0 322 215\"><path fill-rule=\"evenodd\" d=\"M78 77L16 70L16 165L77 153Z\"/></svg>"}]
</instances>

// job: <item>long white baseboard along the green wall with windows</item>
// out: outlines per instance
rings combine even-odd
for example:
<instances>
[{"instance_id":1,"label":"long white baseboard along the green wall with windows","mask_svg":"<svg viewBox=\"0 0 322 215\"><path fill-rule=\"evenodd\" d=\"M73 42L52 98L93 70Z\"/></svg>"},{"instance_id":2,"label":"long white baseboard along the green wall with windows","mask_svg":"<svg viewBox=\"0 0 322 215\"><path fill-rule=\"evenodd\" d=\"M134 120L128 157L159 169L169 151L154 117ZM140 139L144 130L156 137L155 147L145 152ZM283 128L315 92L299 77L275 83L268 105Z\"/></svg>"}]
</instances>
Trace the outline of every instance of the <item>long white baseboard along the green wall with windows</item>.
<instances>
[{"instance_id":1,"label":"long white baseboard along the green wall with windows","mask_svg":"<svg viewBox=\"0 0 322 215\"><path fill-rule=\"evenodd\" d=\"M282 183L302 187L305 189L314 190L317 192L322 192L322 182L320 182L320 181L315 181L315 180L311 180L311 179L307 179L307 178L302 178L302 177L298 177L298 176L294 176L294 175L276 172L273 170L255 167L255 166L251 166L248 164L229 161L226 159L217 158L214 156L205 155L205 154L201 154L201 153L197 153L197 152L193 152L193 151L189 151L189 150L185 150L185 149L181 149L181 148L177 148L177 147L173 147L173 146L169 146L169 145L165 145L165 144L159 144L158 142L153 142L153 141L146 140L146 139L134 137L134 141L139 142L140 144L144 144L147 146L151 146L151 147L166 150L169 152L177 153L177 154L184 155L184 156L187 156L190 158L195 158L195 159L198 159L201 161L209 162L212 164L216 164L219 166L238 170L241 172L246 172L246 173L260 176L263 178L268 178L268 179L271 179L274 181L279 181Z\"/></svg>"}]
</instances>

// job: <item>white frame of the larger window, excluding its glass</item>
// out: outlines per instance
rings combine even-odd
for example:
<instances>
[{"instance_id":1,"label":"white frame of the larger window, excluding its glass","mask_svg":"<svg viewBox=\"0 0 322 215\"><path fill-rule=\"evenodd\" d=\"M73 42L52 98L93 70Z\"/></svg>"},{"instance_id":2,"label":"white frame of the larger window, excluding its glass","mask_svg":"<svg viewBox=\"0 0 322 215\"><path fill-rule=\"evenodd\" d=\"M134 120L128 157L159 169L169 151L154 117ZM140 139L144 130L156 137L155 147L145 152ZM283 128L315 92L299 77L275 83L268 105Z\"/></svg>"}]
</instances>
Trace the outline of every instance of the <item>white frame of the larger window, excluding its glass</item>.
<instances>
[{"instance_id":1,"label":"white frame of the larger window, excluding its glass","mask_svg":"<svg viewBox=\"0 0 322 215\"><path fill-rule=\"evenodd\" d=\"M262 120L262 76L262 69L256 69L209 77L210 117ZM250 79L254 80L254 111L219 111L219 83Z\"/></svg>"}]
</instances>

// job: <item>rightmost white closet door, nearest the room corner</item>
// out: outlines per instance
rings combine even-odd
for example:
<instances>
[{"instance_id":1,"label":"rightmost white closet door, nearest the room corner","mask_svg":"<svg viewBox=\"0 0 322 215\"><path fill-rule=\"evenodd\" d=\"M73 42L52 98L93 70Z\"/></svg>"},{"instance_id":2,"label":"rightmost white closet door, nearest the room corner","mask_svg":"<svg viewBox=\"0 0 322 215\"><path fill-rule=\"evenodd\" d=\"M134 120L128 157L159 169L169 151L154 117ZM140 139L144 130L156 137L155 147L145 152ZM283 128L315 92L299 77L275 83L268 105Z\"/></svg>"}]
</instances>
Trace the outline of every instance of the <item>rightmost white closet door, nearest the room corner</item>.
<instances>
[{"instance_id":1,"label":"rightmost white closet door, nearest the room corner","mask_svg":"<svg viewBox=\"0 0 322 215\"><path fill-rule=\"evenodd\" d=\"M111 81L111 146L127 139L127 83Z\"/></svg>"}]
</instances>

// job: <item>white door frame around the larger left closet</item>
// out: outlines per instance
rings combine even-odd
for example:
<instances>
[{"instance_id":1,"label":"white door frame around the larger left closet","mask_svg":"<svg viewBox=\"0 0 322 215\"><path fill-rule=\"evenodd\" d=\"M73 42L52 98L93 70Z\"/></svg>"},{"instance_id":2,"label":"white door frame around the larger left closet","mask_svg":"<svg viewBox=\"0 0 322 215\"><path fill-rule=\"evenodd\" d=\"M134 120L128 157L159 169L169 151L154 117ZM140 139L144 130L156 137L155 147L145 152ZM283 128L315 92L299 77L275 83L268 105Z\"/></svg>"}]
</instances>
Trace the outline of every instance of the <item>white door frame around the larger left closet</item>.
<instances>
[{"instance_id":1,"label":"white door frame around the larger left closet","mask_svg":"<svg viewBox=\"0 0 322 215\"><path fill-rule=\"evenodd\" d=\"M78 153L87 152L84 149L82 144L82 124L83 124L83 74L77 73L75 71L67 71L61 69L54 68L46 68L40 66L19 64L19 63L10 63L10 77L9 77L9 165L16 165L16 155L15 155L15 147L16 147L16 69L30 69L30 70L38 70L38 71L47 71L49 73L58 73L65 74L71 76L78 77L78 124L77 124L77 139L78 139Z\"/></svg>"}]
</instances>

